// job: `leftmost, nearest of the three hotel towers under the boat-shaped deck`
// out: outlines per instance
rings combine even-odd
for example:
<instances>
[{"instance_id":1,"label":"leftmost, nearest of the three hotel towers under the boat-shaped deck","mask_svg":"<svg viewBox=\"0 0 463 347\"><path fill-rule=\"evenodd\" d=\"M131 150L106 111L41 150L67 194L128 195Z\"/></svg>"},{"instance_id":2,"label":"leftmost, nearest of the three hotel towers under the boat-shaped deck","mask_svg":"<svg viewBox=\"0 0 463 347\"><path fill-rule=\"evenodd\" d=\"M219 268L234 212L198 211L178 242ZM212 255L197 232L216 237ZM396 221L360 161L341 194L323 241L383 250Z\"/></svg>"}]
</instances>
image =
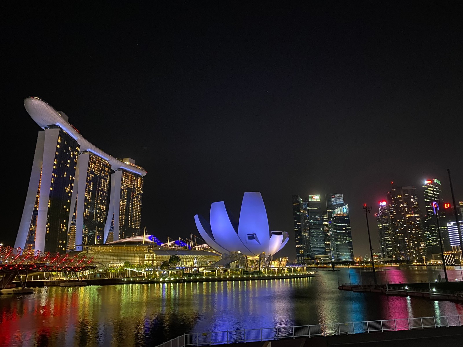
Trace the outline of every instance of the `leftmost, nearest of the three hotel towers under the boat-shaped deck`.
<instances>
[{"instance_id":1,"label":"leftmost, nearest of the three hotel towers under the boat-shaped deck","mask_svg":"<svg viewBox=\"0 0 463 347\"><path fill-rule=\"evenodd\" d=\"M65 252L79 144L50 125L38 133L31 178L15 247Z\"/></svg>"}]
</instances>

